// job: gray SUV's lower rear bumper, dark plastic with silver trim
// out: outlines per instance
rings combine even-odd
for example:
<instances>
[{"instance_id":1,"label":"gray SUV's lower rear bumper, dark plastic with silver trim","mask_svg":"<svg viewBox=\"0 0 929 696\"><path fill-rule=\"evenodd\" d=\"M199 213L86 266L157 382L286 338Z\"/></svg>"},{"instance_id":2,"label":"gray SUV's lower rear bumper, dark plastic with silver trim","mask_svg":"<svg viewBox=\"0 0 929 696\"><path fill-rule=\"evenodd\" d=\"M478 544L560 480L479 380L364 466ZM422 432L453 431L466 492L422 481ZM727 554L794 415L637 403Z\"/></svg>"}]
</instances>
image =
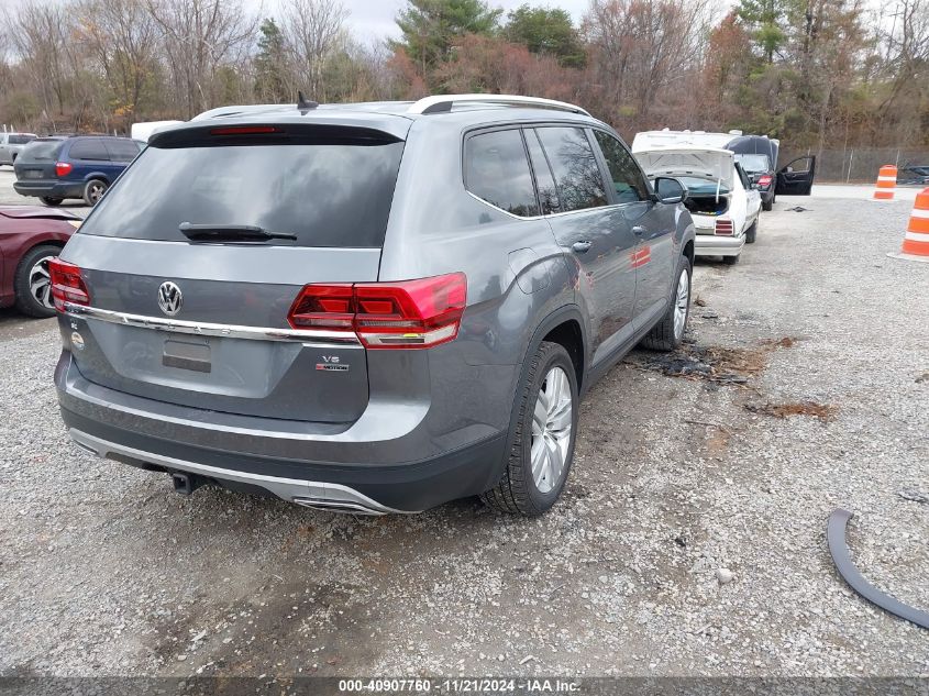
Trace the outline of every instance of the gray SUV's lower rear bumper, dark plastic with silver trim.
<instances>
[{"instance_id":1,"label":"gray SUV's lower rear bumper, dark plastic with silver trim","mask_svg":"<svg viewBox=\"0 0 929 696\"><path fill-rule=\"evenodd\" d=\"M70 437L100 456L309 507L418 512L483 493L502 471L505 432L471 433L460 439L466 444L439 451L424 428L369 442L332 429L310 432L299 421L291 431L220 427L199 412L195 420L195 409L164 419L159 402L147 404L151 410L145 399L118 404L111 390L82 380L67 352L55 382Z\"/></svg>"}]
</instances>

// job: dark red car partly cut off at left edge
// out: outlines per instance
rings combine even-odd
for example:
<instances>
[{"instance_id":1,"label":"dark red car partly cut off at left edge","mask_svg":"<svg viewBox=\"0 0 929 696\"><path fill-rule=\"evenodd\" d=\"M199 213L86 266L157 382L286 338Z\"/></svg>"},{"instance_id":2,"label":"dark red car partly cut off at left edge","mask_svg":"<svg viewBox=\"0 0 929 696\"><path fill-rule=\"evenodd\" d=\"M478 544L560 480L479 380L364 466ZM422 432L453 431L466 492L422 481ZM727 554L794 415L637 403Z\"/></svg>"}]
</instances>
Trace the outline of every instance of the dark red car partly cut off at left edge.
<instances>
[{"instance_id":1,"label":"dark red car partly cut off at left edge","mask_svg":"<svg viewBox=\"0 0 929 696\"><path fill-rule=\"evenodd\" d=\"M15 305L30 317L53 317L48 262L80 225L67 210L0 207L0 307Z\"/></svg>"}]
</instances>

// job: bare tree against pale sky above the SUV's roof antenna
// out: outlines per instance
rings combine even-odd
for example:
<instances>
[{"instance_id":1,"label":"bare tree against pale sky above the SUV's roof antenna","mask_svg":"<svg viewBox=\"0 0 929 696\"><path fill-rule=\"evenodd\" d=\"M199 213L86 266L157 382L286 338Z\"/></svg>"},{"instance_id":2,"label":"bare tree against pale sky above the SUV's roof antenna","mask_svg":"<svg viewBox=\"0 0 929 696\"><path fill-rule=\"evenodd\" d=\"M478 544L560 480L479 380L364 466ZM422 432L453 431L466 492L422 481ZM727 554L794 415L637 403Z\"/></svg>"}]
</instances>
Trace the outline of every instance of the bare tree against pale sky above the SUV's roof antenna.
<instances>
[{"instance_id":1,"label":"bare tree against pale sky above the SUV's roof antenna","mask_svg":"<svg viewBox=\"0 0 929 696\"><path fill-rule=\"evenodd\" d=\"M322 101L325 63L345 38L349 12L339 0L286 0L283 16L295 76L298 80L305 76L309 96Z\"/></svg>"}]
</instances>

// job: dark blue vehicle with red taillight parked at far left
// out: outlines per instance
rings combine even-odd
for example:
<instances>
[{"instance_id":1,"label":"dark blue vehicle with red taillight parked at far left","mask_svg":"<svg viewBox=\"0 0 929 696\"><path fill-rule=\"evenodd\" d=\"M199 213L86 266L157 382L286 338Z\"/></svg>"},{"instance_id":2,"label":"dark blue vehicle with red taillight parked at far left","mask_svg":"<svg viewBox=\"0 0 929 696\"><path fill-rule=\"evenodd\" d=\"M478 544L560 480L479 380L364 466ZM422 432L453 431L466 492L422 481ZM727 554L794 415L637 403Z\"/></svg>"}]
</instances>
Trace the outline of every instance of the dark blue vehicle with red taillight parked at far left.
<instances>
[{"instance_id":1,"label":"dark blue vehicle with red taillight parked at far left","mask_svg":"<svg viewBox=\"0 0 929 696\"><path fill-rule=\"evenodd\" d=\"M21 196L36 196L46 206L66 198L82 198L96 206L144 143L129 137L76 135L40 137L16 159L13 188Z\"/></svg>"}]
</instances>

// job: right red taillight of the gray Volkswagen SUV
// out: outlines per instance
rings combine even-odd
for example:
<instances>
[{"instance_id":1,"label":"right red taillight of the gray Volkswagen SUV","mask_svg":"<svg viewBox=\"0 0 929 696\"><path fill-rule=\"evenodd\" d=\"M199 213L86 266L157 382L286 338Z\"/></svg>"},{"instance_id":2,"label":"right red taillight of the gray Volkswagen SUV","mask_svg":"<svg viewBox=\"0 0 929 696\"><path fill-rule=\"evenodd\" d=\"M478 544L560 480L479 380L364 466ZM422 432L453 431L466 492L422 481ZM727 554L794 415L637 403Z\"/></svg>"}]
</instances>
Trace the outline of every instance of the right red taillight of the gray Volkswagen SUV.
<instances>
[{"instance_id":1,"label":"right red taillight of the gray Volkswagen SUV","mask_svg":"<svg viewBox=\"0 0 929 696\"><path fill-rule=\"evenodd\" d=\"M463 273L354 285L308 285L287 320L295 329L351 331L369 349L422 349L458 334L467 299Z\"/></svg>"}]
</instances>

